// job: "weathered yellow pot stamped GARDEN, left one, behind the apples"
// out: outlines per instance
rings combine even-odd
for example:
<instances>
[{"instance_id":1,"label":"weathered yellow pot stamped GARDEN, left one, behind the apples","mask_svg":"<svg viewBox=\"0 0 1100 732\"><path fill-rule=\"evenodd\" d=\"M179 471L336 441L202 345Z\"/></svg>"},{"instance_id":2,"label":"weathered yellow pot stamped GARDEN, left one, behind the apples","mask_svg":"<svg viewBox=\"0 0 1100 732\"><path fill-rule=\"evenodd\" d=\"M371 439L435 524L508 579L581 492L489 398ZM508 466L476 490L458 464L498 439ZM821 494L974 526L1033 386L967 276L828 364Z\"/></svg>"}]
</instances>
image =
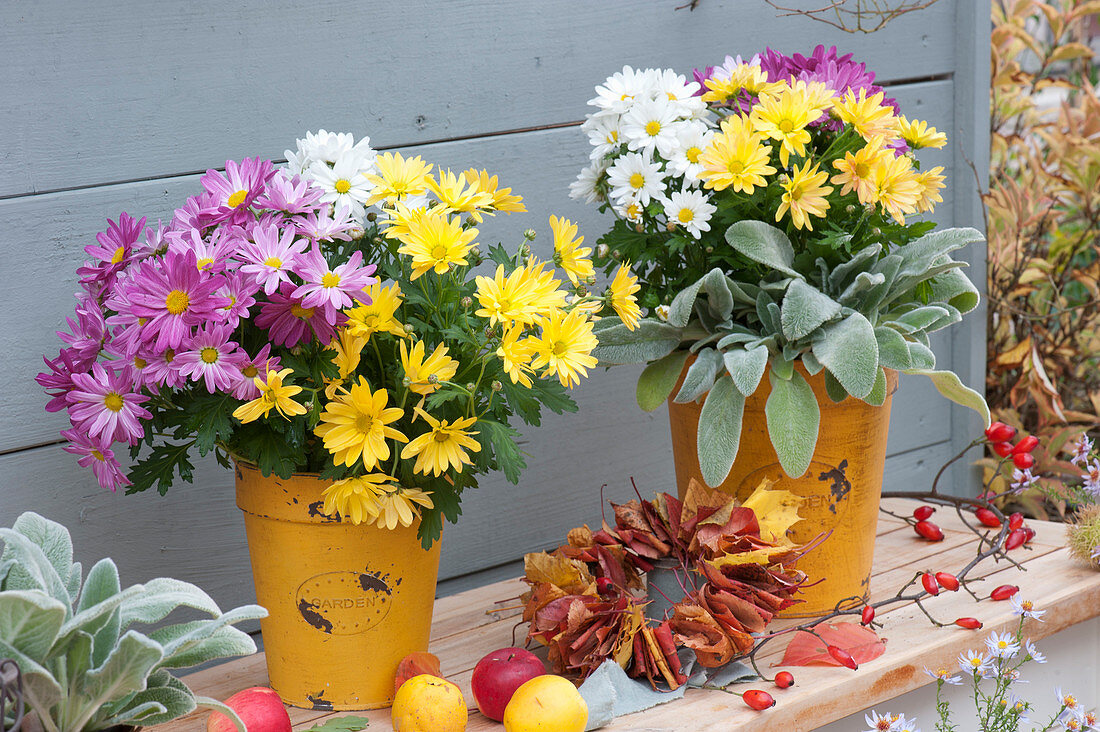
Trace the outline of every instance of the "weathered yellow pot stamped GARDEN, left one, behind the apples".
<instances>
[{"instance_id":1,"label":"weathered yellow pot stamped GARDEN, left one, behind the apples","mask_svg":"<svg viewBox=\"0 0 1100 732\"><path fill-rule=\"evenodd\" d=\"M237 466L271 686L305 709L387 707L398 662L428 649L439 542L324 515L329 483Z\"/></svg>"}]
</instances>

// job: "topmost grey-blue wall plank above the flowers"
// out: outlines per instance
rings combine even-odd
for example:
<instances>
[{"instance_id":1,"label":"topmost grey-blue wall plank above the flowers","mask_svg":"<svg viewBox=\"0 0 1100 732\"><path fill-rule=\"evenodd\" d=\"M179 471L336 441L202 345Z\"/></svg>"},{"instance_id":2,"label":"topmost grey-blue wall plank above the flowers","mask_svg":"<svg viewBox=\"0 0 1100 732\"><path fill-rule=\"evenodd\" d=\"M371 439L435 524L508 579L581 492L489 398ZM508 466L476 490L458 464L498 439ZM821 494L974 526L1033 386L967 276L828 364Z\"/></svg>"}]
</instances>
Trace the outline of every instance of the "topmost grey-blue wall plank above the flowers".
<instances>
[{"instance_id":1,"label":"topmost grey-blue wall plank above the flowers","mask_svg":"<svg viewBox=\"0 0 1100 732\"><path fill-rule=\"evenodd\" d=\"M763 2L0 3L0 196L279 157L307 129L406 145L558 124L624 64L835 44L881 80L955 68L959 0L871 35Z\"/></svg>"}]
</instances>

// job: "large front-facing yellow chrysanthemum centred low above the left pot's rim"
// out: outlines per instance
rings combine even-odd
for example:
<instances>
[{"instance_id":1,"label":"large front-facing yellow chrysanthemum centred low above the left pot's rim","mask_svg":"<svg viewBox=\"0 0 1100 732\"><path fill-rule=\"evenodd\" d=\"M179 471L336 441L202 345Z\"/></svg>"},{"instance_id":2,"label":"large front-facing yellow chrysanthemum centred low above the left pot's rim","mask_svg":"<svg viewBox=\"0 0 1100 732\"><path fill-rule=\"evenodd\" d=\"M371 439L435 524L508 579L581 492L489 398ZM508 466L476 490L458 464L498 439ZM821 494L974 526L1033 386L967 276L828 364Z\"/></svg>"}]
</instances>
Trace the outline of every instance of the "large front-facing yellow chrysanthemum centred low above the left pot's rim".
<instances>
[{"instance_id":1,"label":"large front-facing yellow chrysanthemum centred low above the left pot's rim","mask_svg":"<svg viewBox=\"0 0 1100 732\"><path fill-rule=\"evenodd\" d=\"M408 441L388 426L405 414L404 409L386 407L388 400L385 389L372 392L366 379L360 376L358 384L324 406L314 434L323 440L333 462L351 467L362 457L363 467L371 470L389 457L387 439Z\"/></svg>"}]
</instances>

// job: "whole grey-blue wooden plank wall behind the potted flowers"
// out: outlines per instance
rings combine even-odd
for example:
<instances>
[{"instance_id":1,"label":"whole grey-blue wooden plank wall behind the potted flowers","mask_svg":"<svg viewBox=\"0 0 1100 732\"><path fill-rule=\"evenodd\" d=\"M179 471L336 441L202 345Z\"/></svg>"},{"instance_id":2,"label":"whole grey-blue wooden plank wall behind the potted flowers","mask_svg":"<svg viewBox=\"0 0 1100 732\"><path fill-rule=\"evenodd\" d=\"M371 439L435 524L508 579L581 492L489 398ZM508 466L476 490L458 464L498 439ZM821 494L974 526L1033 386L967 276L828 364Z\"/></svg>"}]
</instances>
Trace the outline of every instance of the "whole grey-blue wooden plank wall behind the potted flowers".
<instances>
[{"instance_id":1,"label":"whole grey-blue wooden plank wall behind the potted flowers","mask_svg":"<svg viewBox=\"0 0 1100 732\"><path fill-rule=\"evenodd\" d=\"M588 241L608 226L568 197L588 153L576 125L607 75L624 64L690 74L727 53L837 44L877 70L908 114L950 134L949 148L925 156L948 171L953 195L937 216L979 223L967 161L985 160L989 0L941 0L873 35L777 19L762 0L678 4L2 0L0 524L33 509L73 529L81 559L116 557L124 581L173 575L224 603L251 599L231 476L206 465L166 498L106 493L62 451L64 415L43 411L32 379L42 354L56 354L81 249L108 217L168 218L202 171L282 159L307 130L370 134L375 146L498 173L530 214L498 217L484 236L515 242L534 227L546 256L551 212L580 221ZM971 315L937 353L980 386L982 343L983 317ZM485 581L494 567L513 572L524 551L598 523L602 485L618 499L630 477L645 492L672 487L667 417L635 406L636 375L595 374L576 392L580 414L529 431L519 487L494 477L469 496L462 523L444 532L441 591ZM965 422L926 383L904 380L887 484L926 484L967 438Z\"/></svg>"}]
</instances>

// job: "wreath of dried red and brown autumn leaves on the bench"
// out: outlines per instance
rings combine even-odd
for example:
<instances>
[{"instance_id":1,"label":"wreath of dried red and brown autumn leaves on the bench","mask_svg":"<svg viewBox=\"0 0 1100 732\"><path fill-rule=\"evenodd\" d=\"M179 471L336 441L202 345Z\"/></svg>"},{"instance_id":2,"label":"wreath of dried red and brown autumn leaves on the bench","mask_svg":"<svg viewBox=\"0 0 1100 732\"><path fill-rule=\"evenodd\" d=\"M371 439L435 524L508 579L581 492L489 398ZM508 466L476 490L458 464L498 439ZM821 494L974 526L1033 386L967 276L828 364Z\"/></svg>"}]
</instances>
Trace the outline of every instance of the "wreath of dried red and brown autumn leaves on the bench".
<instances>
[{"instance_id":1,"label":"wreath of dried red and brown autumn leaves on the bench","mask_svg":"<svg viewBox=\"0 0 1100 732\"><path fill-rule=\"evenodd\" d=\"M528 641L549 648L558 674L587 677L613 658L656 688L688 680L676 651L713 668L748 654L776 613L799 602L806 580L789 565L809 546L787 531L802 499L762 483L744 503L692 481L684 500L615 504L615 526L569 532L550 553L524 557ZM671 559L686 578L683 598L661 622L645 616L642 575Z\"/></svg>"}]
</instances>

